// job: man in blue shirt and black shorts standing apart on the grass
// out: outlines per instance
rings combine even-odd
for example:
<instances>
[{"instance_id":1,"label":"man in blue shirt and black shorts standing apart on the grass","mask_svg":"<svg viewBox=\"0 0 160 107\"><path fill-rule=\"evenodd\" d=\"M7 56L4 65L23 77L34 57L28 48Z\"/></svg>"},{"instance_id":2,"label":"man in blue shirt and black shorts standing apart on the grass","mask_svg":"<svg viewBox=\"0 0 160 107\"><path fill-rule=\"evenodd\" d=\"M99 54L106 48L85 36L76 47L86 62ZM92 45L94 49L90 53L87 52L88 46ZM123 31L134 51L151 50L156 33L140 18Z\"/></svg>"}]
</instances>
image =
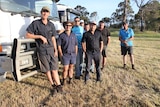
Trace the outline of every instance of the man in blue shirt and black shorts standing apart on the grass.
<instances>
[{"instance_id":1,"label":"man in blue shirt and black shorts standing apart on the grass","mask_svg":"<svg viewBox=\"0 0 160 107\"><path fill-rule=\"evenodd\" d=\"M130 56L132 69L134 68L134 56L133 56L133 39L134 32L128 27L126 22L122 23L123 28L119 31L119 40L121 42L121 54L123 55L123 68L126 68L127 64L127 53Z\"/></svg>"}]
</instances>

